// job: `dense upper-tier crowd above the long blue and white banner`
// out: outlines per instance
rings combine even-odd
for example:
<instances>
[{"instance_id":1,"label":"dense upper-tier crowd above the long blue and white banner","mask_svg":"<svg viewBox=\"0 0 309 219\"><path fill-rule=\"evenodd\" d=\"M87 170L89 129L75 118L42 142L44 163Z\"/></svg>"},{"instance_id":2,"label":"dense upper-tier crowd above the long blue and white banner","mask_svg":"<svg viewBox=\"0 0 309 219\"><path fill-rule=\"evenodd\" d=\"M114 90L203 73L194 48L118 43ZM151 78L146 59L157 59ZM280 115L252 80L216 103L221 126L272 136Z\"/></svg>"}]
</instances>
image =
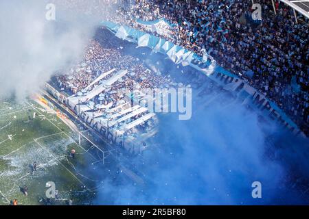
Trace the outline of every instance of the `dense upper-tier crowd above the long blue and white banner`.
<instances>
[{"instance_id":1,"label":"dense upper-tier crowd above the long blue and white banner","mask_svg":"<svg viewBox=\"0 0 309 219\"><path fill-rule=\"evenodd\" d=\"M95 5L105 2L92 1ZM137 19L165 18L173 25L172 34L161 37L199 55L207 51L218 64L277 103L309 133L307 18L299 15L305 21L296 22L293 10L279 1L275 1L276 13L271 1L254 1L262 5L262 22L258 25L245 16L246 12L252 12L250 0L119 2L108 8L91 8L91 12L86 6L82 8L87 13L138 29L144 26ZM78 1L66 3L70 8L78 5Z\"/></svg>"}]
</instances>

